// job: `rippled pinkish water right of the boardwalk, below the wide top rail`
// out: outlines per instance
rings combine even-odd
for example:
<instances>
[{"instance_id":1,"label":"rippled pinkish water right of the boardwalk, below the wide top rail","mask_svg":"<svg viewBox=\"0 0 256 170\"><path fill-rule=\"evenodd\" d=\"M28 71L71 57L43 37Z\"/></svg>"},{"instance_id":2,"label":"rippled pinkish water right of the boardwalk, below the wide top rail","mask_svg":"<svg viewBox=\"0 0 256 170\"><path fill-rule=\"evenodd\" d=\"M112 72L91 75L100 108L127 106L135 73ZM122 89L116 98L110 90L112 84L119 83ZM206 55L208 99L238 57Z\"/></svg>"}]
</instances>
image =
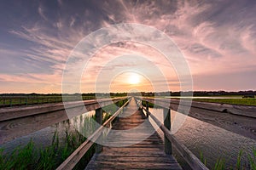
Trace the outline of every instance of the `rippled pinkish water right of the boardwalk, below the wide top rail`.
<instances>
[{"instance_id":1,"label":"rippled pinkish water right of the boardwalk, below the wide top rail","mask_svg":"<svg viewBox=\"0 0 256 170\"><path fill-rule=\"evenodd\" d=\"M149 111L163 122L162 109L149 108ZM181 113L172 111L172 120L175 114ZM223 128L215 127L207 122L201 122L190 116L186 117L183 126L174 135L195 156L200 158L200 153L203 153L207 159L207 167L210 167L210 169L214 167L218 158L224 158L228 167L234 167L240 150L243 150L243 165L246 169L249 169L247 155L252 155L253 148L256 148L256 141L253 139L231 133Z\"/></svg>"}]
</instances>

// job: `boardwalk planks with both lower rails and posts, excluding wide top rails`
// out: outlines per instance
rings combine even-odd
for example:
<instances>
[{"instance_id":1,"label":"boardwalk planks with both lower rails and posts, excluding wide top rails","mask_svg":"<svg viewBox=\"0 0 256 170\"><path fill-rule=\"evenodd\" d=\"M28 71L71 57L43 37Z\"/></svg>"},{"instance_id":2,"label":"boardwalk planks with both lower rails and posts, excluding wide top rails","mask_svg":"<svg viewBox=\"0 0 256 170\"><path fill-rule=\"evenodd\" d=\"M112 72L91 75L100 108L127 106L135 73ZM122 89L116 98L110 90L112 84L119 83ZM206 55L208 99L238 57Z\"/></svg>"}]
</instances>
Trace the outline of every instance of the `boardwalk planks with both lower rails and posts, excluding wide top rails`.
<instances>
[{"instance_id":1,"label":"boardwalk planks with both lower rails and posts, excluding wide top rails","mask_svg":"<svg viewBox=\"0 0 256 170\"><path fill-rule=\"evenodd\" d=\"M182 169L172 156L172 144L193 169L208 169L192 152L171 134L171 110L164 108L165 123L162 124L142 105L142 99L128 101L102 124L102 109L96 110L96 121L102 124L84 144L57 169L73 169L82 156L97 141L96 154L86 169ZM164 142L148 120L150 116L165 134ZM113 120L116 120L113 122ZM102 136L105 127L113 122L106 139ZM102 146L105 145L105 146Z\"/></svg>"}]
</instances>

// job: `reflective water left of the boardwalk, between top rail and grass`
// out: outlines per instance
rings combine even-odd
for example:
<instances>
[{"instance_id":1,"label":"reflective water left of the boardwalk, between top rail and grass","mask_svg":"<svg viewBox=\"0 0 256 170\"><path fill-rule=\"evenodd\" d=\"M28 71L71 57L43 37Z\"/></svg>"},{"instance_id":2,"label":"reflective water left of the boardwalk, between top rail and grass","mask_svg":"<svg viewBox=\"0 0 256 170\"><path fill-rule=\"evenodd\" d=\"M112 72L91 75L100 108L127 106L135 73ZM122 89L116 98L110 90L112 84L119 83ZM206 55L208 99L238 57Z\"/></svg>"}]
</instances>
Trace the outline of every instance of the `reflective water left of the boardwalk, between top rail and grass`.
<instances>
[{"instance_id":1,"label":"reflective water left of the boardwalk, between top rail and grass","mask_svg":"<svg viewBox=\"0 0 256 170\"><path fill-rule=\"evenodd\" d=\"M67 137L67 133L77 131L84 132L86 134L92 133L96 129L96 127L93 127L91 123L94 122L93 116L95 116L95 111L89 111L80 116L75 116L70 120L67 119L66 121L55 123L50 127L46 127L37 132L11 140L5 144L1 144L0 148L4 149L4 154L8 154L15 150L16 147L28 144L31 139L36 147L44 148L52 143L53 136L56 132L61 144L62 140Z\"/></svg>"}]
</instances>

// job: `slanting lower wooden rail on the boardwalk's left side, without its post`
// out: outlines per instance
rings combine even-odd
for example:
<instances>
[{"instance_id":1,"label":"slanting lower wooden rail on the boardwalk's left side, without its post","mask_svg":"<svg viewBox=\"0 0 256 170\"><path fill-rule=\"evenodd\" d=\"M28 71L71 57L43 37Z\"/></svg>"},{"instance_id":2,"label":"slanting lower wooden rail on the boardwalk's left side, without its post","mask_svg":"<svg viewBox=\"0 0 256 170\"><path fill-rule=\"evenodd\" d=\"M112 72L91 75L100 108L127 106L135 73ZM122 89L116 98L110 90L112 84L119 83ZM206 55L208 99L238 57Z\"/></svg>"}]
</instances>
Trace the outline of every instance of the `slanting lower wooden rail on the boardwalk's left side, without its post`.
<instances>
[{"instance_id":1,"label":"slanting lower wooden rail on the boardwalk's left side, without its post","mask_svg":"<svg viewBox=\"0 0 256 170\"><path fill-rule=\"evenodd\" d=\"M131 98L129 98L128 101L125 102L125 105L128 105L128 103L130 101L131 101ZM88 139L86 139L84 141L84 143L79 146L78 149L74 150L73 153L70 156L68 156L67 159L65 161L63 161L61 163L61 165L59 167L57 167L56 169L57 170L73 169L73 167L75 167L75 165L84 156L84 154L90 149L92 144L94 144L92 141L96 141L96 139L98 139L101 136L103 127L106 127L109 123L111 123L113 121L113 119L116 116L118 116L121 113L121 111L123 111L123 108L125 107L125 105L120 107L119 110L116 111L113 114L113 116L111 116L106 122L104 122L101 127L97 128L96 131L93 134L91 134L90 137L88 137Z\"/></svg>"}]
</instances>

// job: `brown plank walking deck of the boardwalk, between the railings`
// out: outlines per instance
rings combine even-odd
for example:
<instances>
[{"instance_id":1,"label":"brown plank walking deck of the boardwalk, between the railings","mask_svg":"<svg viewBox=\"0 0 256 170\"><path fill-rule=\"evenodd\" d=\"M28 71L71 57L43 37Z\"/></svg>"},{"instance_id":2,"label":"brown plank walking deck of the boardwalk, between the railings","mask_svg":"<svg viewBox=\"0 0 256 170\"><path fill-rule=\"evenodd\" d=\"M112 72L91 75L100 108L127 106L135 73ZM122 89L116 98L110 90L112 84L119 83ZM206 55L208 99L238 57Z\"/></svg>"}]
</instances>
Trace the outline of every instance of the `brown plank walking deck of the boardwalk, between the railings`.
<instances>
[{"instance_id":1,"label":"brown plank walking deck of the boardwalk, between the railings","mask_svg":"<svg viewBox=\"0 0 256 170\"><path fill-rule=\"evenodd\" d=\"M121 116L108 133L108 146L93 156L86 169L182 169L173 156L166 155L160 136L137 111L134 99Z\"/></svg>"}]
</instances>

